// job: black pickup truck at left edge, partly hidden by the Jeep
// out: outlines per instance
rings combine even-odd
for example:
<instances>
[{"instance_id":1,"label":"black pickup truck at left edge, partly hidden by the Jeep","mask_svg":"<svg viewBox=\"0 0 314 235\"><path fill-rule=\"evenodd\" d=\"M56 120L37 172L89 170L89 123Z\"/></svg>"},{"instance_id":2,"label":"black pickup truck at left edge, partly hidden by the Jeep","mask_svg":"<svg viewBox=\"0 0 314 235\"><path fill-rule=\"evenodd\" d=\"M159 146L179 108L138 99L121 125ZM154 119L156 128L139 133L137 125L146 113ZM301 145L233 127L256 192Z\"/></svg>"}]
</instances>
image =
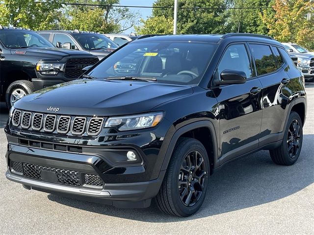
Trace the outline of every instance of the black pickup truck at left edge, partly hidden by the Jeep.
<instances>
[{"instance_id":1,"label":"black pickup truck at left edge, partly hidden by the Jeep","mask_svg":"<svg viewBox=\"0 0 314 235\"><path fill-rule=\"evenodd\" d=\"M85 51L56 48L34 31L0 25L0 101L10 108L26 94L78 78L98 61Z\"/></svg>"}]
</instances>

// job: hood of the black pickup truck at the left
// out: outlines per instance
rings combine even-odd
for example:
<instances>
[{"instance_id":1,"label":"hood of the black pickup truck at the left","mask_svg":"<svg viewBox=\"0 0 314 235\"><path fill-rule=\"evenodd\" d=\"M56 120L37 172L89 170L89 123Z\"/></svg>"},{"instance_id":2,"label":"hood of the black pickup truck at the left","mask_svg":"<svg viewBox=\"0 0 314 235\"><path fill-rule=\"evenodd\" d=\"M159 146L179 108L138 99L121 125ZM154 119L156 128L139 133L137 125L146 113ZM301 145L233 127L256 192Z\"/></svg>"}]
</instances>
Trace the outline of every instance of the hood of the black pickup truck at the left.
<instances>
[{"instance_id":1,"label":"hood of the black pickup truck at the left","mask_svg":"<svg viewBox=\"0 0 314 235\"><path fill-rule=\"evenodd\" d=\"M61 60L65 56L80 55L90 56L90 53L80 50L70 50L57 47L28 47L21 49L11 49L12 54L21 56L33 56L41 59Z\"/></svg>"}]
</instances>

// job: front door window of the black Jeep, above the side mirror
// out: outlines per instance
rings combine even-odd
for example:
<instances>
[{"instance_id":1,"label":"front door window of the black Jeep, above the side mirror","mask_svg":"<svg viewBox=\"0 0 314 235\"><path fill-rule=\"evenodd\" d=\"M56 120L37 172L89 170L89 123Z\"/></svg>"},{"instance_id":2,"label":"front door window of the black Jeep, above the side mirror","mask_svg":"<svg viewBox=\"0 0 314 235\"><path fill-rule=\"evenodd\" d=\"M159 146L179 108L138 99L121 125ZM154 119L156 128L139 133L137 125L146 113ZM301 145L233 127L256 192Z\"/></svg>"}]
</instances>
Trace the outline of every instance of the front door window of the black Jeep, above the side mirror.
<instances>
[{"instance_id":1,"label":"front door window of the black Jeep, above the side mirror","mask_svg":"<svg viewBox=\"0 0 314 235\"><path fill-rule=\"evenodd\" d=\"M224 70L239 70L245 72L247 78L252 77L250 60L243 44L227 48L218 65L219 74Z\"/></svg>"}]
</instances>

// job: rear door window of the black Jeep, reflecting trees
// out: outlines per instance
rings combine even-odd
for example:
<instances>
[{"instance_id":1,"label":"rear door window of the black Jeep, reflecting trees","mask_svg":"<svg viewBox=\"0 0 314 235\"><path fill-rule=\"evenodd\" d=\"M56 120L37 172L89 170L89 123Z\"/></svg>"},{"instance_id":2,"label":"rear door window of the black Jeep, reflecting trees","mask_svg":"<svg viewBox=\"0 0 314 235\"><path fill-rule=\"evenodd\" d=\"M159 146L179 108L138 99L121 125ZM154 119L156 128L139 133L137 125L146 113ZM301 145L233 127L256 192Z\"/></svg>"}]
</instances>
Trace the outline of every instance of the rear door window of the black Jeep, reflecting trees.
<instances>
[{"instance_id":1,"label":"rear door window of the black Jeep, reflecting trees","mask_svg":"<svg viewBox=\"0 0 314 235\"><path fill-rule=\"evenodd\" d=\"M255 59L258 75L263 75L277 70L275 57L269 46L253 44L250 47Z\"/></svg>"}]
</instances>

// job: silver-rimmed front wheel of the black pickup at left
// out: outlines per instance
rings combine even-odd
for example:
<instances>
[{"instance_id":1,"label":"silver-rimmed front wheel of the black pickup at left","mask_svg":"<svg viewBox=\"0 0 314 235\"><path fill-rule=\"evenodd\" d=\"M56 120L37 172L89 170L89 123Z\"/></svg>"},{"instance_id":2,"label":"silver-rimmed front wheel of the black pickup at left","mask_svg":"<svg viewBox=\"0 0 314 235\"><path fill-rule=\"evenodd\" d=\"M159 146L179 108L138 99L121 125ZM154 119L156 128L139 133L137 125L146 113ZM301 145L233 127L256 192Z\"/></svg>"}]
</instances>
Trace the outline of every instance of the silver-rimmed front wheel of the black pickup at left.
<instances>
[{"instance_id":1,"label":"silver-rimmed front wheel of the black pickup at left","mask_svg":"<svg viewBox=\"0 0 314 235\"><path fill-rule=\"evenodd\" d=\"M24 96L34 91L35 91L34 85L30 81L19 80L19 81L11 83L5 93L6 106L10 109L12 107L12 104L17 100L16 99L14 102L12 102L11 100L12 93L20 93L21 96L22 95Z\"/></svg>"}]
</instances>

